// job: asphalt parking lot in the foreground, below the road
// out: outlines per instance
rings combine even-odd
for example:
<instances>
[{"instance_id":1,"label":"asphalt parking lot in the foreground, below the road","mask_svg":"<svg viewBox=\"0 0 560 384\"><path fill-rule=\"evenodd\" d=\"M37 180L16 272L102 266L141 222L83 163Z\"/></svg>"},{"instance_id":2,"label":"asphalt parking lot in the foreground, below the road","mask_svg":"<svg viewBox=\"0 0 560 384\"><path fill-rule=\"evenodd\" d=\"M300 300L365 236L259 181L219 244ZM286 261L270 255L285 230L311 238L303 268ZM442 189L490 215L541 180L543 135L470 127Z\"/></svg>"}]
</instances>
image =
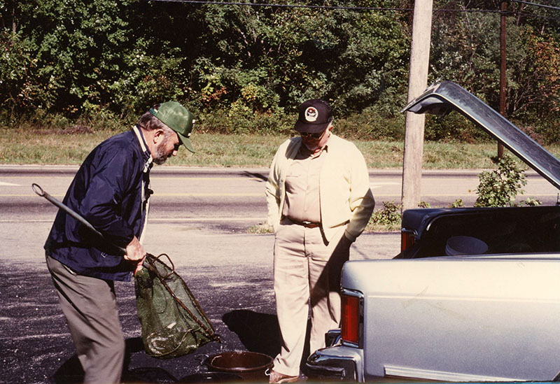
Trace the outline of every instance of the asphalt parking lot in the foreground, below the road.
<instances>
[{"instance_id":1,"label":"asphalt parking lot in the foreground, below the road","mask_svg":"<svg viewBox=\"0 0 560 384\"><path fill-rule=\"evenodd\" d=\"M1 383L69 383L80 378L42 245L50 223L0 222ZM392 257L398 234L361 236L351 258ZM272 292L272 235L207 229L206 223L155 223L146 249L167 253L222 336L195 353L159 360L144 353L134 285L117 283L120 321L127 343L128 381L169 383L206 371L201 361L221 351L279 351Z\"/></svg>"}]
</instances>

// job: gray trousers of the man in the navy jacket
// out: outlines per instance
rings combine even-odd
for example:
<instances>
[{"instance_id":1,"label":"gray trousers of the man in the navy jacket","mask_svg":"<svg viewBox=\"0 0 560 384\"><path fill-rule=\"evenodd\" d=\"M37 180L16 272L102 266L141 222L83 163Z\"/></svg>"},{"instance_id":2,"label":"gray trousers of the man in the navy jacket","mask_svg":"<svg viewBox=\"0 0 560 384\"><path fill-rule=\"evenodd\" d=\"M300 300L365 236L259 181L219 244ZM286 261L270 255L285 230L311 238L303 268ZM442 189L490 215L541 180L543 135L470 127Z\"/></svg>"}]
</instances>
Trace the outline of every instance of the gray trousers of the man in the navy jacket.
<instances>
[{"instance_id":1,"label":"gray trousers of the man in the navy jacket","mask_svg":"<svg viewBox=\"0 0 560 384\"><path fill-rule=\"evenodd\" d=\"M120 383L125 339L113 281L79 275L49 256L47 266L85 372L84 383Z\"/></svg>"}]
</instances>

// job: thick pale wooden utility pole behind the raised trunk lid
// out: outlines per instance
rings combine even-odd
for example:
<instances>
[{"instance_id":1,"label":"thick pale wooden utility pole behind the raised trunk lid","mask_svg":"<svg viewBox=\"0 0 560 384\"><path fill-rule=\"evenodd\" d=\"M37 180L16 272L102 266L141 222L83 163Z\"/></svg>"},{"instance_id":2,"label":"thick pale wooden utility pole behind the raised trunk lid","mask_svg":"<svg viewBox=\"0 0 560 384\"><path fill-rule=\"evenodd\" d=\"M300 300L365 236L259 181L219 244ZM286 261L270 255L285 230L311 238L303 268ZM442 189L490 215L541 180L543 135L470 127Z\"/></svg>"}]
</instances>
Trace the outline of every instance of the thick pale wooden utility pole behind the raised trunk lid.
<instances>
[{"instance_id":1,"label":"thick pale wooden utility pole behind the raised trunk lid","mask_svg":"<svg viewBox=\"0 0 560 384\"><path fill-rule=\"evenodd\" d=\"M412 45L408 74L408 101L419 96L428 85L430 62L430 35L432 29L432 0L414 1ZM424 115L407 112L405 155L402 162L402 210L416 208L420 202Z\"/></svg>"}]
</instances>

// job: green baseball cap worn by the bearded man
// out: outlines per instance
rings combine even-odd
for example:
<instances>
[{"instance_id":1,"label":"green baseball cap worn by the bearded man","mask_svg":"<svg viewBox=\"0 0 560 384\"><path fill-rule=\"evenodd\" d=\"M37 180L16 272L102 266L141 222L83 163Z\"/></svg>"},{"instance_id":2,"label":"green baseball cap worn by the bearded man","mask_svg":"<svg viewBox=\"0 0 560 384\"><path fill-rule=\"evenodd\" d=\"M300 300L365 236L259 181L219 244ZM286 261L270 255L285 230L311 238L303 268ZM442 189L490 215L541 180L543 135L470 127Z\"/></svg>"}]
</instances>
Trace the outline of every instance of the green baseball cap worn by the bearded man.
<instances>
[{"instance_id":1,"label":"green baseball cap worn by the bearded man","mask_svg":"<svg viewBox=\"0 0 560 384\"><path fill-rule=\"evenodd\" d=\"M193 143L190 143L190 132L193 131L193 124L195 122L193 113L179 104L177 101L166 101L163 103L158 111L150 108L150 113L158 118L167 127L176 131L177 136L181 139L181 143L195 153Z\"/></svg>"}]
</instances>

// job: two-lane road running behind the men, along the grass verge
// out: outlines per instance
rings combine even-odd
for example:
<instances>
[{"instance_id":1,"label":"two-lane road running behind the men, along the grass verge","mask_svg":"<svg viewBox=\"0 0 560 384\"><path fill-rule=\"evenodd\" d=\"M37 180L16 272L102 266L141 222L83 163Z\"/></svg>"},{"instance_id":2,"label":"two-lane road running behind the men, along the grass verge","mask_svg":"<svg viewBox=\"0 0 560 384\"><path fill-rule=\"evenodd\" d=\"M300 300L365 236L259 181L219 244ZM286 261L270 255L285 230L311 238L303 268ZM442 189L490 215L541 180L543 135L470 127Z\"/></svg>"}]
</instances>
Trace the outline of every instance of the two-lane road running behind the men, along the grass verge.
<instances>
[{"instance_id":1,"label":"two-lane road running behind the men, along the grass verge","mask_svg":"<svg viewBox=\"0 0 560 384\"><path fill-rule=\"evenodd\" d=\"M45 191L62 199L76 166L0 165L0 204L4 216L11 218L50 218L56 211L47 201L38 201L31 191L37 183ZM449 206L462 199L472 206L480 171L424 171L421 201L430 206ZM208 169L155 166L152 175L151 219L186 221L262 222L266 217L265 180L267 169ZM518 200L535 197L553 205L558 190L531 171L528 184ZM383 201L400 201L400 170L370 170L370 184L377 208Z\"/></svg>"}]
</instances>

